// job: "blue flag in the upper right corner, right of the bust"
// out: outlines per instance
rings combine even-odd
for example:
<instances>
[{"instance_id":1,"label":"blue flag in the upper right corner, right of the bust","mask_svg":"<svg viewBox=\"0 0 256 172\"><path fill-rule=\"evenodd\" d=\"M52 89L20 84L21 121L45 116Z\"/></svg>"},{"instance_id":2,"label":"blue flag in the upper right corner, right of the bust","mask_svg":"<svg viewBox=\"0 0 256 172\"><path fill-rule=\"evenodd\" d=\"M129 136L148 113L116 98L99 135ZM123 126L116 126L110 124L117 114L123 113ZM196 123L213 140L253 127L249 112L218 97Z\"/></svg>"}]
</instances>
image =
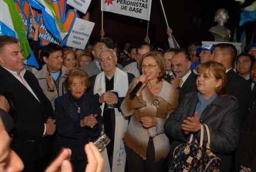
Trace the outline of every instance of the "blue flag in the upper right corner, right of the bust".
<instances>
[{"instance_id":1,"label":"blue flag in the upper right corner, right of the bust","mask_svg":"<svg viewBox=\"0 0 256 172\"><path fill-rule=\"evenodd\" d=\"M256 20L256 1L254 1L250 6L245 7L240 14L240 26L243 26L245 23L253 22Z\"/></svg>"}]
</instances>

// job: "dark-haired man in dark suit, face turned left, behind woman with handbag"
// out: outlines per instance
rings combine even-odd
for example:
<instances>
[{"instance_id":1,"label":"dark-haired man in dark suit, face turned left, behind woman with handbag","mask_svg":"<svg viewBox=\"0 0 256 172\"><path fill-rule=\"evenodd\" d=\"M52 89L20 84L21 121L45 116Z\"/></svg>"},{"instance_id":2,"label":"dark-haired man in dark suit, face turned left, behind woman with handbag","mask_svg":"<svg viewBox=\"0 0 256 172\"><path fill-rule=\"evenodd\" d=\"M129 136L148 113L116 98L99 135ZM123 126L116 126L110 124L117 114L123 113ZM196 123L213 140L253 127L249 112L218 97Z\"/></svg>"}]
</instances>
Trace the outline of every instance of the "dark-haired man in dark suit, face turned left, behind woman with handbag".
<instances>
[{"instance_id":1,"label":"dark-haired man in dark suit, face turned left, behind woman with handbag","mask_svg":"<svg viewBox=\"0 0 256 172\"><path fill-rule=\"evenodd\" d=\"M233 70L233 63L237 57L237 49L232 44L215 45L213 61L224 65L227 75L227 93L239 101L239 116L241 124L249 113L251 89L249 83Z\"/></svg>"}]
</instances>

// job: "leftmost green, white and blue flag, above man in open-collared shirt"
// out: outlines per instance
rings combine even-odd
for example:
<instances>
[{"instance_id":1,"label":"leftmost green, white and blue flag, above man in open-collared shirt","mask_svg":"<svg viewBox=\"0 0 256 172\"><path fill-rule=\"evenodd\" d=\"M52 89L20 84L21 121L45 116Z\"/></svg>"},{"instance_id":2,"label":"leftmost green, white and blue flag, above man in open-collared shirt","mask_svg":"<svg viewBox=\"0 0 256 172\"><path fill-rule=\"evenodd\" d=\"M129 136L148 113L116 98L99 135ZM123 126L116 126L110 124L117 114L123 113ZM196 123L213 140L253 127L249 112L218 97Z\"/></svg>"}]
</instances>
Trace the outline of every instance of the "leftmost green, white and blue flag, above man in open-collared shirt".
<instances>
[{"instance_id":1,"label":"leftmost green, white and blue flag, above man in open-collared shirt","mask_svg":"<svg viewBox=\"0 0 256 172\"><path fill-rule=\"evenodd\" d=\"M39 68L35 56L29 46L27 33L22 19L13 3L13 0L0 0L0 35L16 37L23 50L24 63Z\"/></svg>"}]
</instances>

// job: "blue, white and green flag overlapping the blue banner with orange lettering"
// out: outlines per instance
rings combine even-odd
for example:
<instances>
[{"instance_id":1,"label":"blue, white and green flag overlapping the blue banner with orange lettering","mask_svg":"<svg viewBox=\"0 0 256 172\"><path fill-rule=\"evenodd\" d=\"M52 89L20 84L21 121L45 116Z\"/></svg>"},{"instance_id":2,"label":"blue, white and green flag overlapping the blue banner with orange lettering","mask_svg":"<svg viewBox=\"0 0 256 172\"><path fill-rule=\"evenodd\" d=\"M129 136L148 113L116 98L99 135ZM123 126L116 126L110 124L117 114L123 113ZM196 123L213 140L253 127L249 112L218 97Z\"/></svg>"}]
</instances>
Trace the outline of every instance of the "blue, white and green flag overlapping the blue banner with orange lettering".
<instances>
[{"instance_id":1,"label":"blue, white and green flag overlapping the blue banner with orange lettering","mask_svg":"<svg viewBox=\"0 0 256 172\"><path fill-rule=\"evenodd\" d=\"M63 39L66 37L68 32L65 30L61 23L61 20L54 11L54 7L47 0L28 0L29 4L38 10L42 11L42 19L46 28L64 44Z\"/></svg>"}]
</instances>

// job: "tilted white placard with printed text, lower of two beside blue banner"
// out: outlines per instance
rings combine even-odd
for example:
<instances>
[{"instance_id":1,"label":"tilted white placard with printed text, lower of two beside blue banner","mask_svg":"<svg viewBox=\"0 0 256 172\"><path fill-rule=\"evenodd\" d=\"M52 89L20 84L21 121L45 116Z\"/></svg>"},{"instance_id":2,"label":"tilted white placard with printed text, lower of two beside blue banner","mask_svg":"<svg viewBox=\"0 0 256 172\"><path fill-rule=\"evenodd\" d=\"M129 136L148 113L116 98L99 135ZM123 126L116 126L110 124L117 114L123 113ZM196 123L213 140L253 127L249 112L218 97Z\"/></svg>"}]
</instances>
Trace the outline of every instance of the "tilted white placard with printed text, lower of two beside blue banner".
<instances>
[{"instance_id":1,"label":"tilted white placard with printed text, lower of two beside blue banner","mask_svg":"<svg viewBox=\"0 0 256 172\"><path fill-rule=\"evenodd\" d=\"M67 40L67 46L84 50L91 36L95 23L76 18Z\"/></svg>"}]
</instances>

